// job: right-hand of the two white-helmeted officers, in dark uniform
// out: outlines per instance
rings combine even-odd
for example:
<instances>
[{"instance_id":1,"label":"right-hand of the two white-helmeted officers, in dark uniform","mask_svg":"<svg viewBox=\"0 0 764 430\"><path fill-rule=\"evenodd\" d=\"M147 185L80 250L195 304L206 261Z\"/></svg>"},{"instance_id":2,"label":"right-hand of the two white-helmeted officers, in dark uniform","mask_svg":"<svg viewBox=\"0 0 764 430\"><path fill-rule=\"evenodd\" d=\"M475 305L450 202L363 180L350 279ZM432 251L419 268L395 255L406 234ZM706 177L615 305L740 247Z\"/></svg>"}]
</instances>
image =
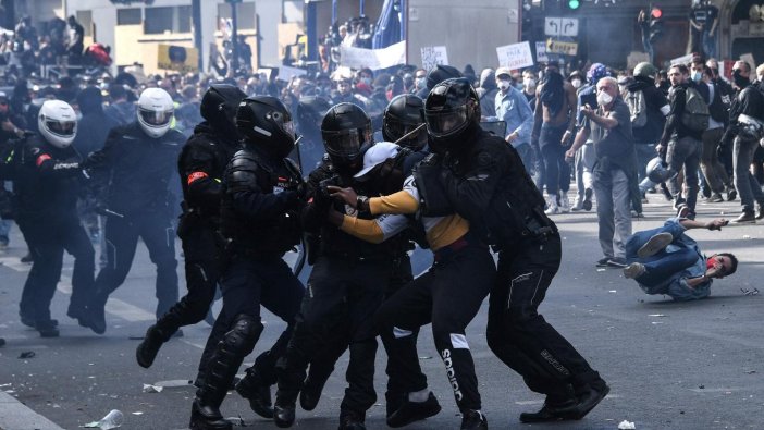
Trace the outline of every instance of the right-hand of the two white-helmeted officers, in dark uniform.
<instances>
[{"instance_id":1,"label":"right-hand of the two white-helmeted officers, in dark uniform","mask_svg":"<svg viewBox=\"0 0 764 430\"><path fill-rule=\"evenodd\" d=\"M112 128L103 149L88 157L101 191L97 194L106 194L96 210L107 216L108 263L96 277L96 292L88 304L96 333L106 332L107 299L127 277L139 237L157 266L157 318L177 302L169 186L185 137L171 130L173 111L167 91L145 89L137 120Z\"/></svg>"}]
</instances>

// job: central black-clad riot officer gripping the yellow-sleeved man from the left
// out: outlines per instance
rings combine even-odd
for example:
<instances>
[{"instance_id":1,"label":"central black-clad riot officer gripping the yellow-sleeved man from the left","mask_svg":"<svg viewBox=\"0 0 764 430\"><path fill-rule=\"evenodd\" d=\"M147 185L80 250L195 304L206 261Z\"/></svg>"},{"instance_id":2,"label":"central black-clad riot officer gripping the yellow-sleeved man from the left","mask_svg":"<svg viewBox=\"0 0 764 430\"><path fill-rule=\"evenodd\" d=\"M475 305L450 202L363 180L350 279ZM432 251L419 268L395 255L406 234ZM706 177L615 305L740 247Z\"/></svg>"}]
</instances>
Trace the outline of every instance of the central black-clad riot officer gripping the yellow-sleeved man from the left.
<instances>
[{"instance_id":1,"label":"central black-clad riot officer gripping the yellow-sleeved man from the left","mask_svg":"<svg viewBox=\"0 0 764 430\"><path fill-rule=\"evenodd\" d=\"M379 195L380 189L374 184L356 183L353 177L362 167L363 153L374 144L371 120L362 109L352 103L334 106L323 119L321 133L329 157L309 175L308 197L312 202L303 217L306 231L318 237L310 244L310 294L305 296L286 359L280 364L274 421L279 427L292 426L308 364L317 351L340 339L345 341L341 348L350 349L346 373L349 386L340 407L340 428L357 430L365 428L366 411L377 400L377 340L371 316L384 298L407 241L396 237L370 244L328 221L331 206L338 205L336 209L345 212L344 205L330 199L328 185L352 185L371 196Z\"/></svg>"}]
</instances>

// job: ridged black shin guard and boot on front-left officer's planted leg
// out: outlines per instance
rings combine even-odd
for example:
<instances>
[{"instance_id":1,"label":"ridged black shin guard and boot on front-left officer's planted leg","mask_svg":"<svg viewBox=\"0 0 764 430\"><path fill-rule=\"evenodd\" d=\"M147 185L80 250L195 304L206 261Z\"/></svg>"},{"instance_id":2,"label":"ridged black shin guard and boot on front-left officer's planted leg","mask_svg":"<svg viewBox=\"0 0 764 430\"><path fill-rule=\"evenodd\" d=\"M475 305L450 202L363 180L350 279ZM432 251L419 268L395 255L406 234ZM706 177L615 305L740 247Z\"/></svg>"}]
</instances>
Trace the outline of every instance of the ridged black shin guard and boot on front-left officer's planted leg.
<instances>
[{"instance_id":1,"label":"ridged black shin guard and boot on front-left officer's planted leg","mask_svg":"<svg viewBox=\"0 0 764 430\"><path fill-rule=\"evenodd\" d=\"M205 382L196 392L192 406L192 430L230 430L231 422L223 419L220 405L225 398L244 357L255 348L262 333L262 324L248 315L237 316L232 330L218 344L210 358Z\"/></svg>"}]
</instances>

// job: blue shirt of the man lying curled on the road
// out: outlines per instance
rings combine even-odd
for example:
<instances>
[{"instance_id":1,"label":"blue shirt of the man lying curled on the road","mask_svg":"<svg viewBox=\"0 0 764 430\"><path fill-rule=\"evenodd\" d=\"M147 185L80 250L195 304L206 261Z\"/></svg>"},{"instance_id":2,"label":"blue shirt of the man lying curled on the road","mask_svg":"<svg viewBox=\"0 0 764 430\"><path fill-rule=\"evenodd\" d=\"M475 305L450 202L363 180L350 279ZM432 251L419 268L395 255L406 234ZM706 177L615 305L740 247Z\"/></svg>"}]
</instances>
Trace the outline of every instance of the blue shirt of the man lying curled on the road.
<instances>
[{"instance_id":1,"label":"blue shirt of the man lying curled on the road","mask_svg":"<svg viewBox=\"0 0 764 430\"><path fill-rule=\"evenodd\" d=\"M677 229L676 231L680 232L687 230L679 223L679 218L668 219L664 226L670 230ZM694 287L687 284L688 279L700 278L705 274L705 257L701 254L698 243L683 233L679 235L675 234L674 237L676 238L666 247L666 253L670 254L680 249L692 249L698 254L698 260L692 266L674 273L657 285L648 286L640 284L639 286L648 294L667 294L677 302L695 300L707 297L711 295L711 284L713 280L710 279Z\"/></svg>"}]
</instances>

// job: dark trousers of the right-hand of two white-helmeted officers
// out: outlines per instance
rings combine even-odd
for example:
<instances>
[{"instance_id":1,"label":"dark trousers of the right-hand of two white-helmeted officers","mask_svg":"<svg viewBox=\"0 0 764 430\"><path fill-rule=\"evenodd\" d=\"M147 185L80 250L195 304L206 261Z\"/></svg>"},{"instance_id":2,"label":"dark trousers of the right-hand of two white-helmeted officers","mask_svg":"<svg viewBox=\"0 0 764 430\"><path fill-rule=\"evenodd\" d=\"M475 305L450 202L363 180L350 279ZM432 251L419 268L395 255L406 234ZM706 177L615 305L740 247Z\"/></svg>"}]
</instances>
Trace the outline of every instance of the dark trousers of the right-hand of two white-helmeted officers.
<instances>
[{"instance_id":1,"label":"dark trousers of the right-hand of two white-helmeted officers","mask_svg":"<svg viewBox=\"0 0 764 430\"><path fill-rule=\"evenodd\" d=\"M107 266L96 277L96 300L106 304L109 295L127 278L138 238L143 238L151 262L157 266L157 318L177 302L175 230L165 213L146 211L125 218L109 217L106 224Z\"/></svg>"}]
</instances>

